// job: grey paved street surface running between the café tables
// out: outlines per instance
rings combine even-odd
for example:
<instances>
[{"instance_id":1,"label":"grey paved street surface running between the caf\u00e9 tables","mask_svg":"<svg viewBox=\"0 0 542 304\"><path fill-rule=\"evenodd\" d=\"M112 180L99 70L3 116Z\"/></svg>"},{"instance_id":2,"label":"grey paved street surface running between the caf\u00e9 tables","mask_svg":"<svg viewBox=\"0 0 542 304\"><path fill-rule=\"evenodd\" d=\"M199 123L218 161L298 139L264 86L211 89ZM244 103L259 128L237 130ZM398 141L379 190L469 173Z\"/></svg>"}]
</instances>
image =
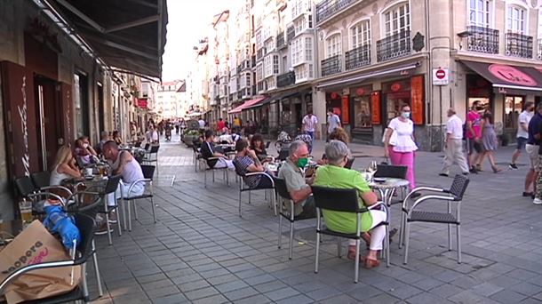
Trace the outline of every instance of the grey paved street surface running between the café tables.
<instances>
[{"instance_id":1,"label":"grey paved street surface running between the caf\u00e9 tables","mask_svg":"<svg viewBox=\"0 0 542 304\"><path fill-rule=\"evenodd\" d=\"M508 170L512 148L498 150L503 172L486 169L471 176L461 208L462 264L455 251L447 250L445 226L414 223L408 265L395 240L391 267L361 268L360 282L354 284L353 262L336 256L331 238L324 238L315 274L314 220L296 222L293 259L288 260L288 227L283 226L283 248L277 249L278 218L263 195L255 192L248 204L243 194L240 218L234 174L229 187L217 174L216 182L203 188L192 150L175 135L173 140L159 153L158 222L152 220L150 204L141 201L132 232L119 237L115 231L111 246L106 236L97 236L105 294L96 303L542 302L542 205L521 196L527 158L522 156L520 170ZM355 168L381 159L381 148L352 149ZM315 156L322 150L323 142L317 142ZM437 175L442 153L419 152L416 161L419 185L450 186L451 178ZM392 227L399 226L399 214L395 205ZM88 269L92 275L92 265ZM96 281L89 281L96 298Z\"/></svg>"}]
</instances>

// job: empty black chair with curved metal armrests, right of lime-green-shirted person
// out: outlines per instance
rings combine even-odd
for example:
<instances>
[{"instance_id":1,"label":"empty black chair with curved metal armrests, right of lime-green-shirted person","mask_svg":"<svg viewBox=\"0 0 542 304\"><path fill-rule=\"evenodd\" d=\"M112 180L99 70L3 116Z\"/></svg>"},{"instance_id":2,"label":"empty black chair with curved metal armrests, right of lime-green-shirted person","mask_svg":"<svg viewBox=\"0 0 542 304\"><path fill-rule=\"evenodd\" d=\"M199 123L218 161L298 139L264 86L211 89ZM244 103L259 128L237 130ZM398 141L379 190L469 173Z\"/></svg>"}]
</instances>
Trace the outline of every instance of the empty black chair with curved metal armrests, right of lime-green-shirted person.
<instances>
[{"instance_id":1,"label":"empty black chair with curved metal armrests, right of lime-green-shirted person","mask_svg":"<svg viewBox=\"0 0 542 304\"><path fill-rule=\"evenodd\" d=\"M423 221L429 223L438 223L448 225L448 250L451 251L451 225L456 225L457 236L457 248L458 248L458 263L461 263L461 226L460 226L460 207L463 195L465 194L466 187L469 180L464 175L456 175L450 189L434 188L434 187L418 187L412 189L410 193L405 197L403 202L403 214L401 216L401 234L399 240L399 246L405 241L404 244L404 260L406 264L409 254L409 238L410 238L410 223L415 221ZM427 194L418 197L414 204L410 205L409 198L414 193L420 191L433 192L434 194ZM428 209L422 209L422 203L446 201L446 212L437 212ZM452 211L452 203L456 203L455 212Z\"/></svg>"}]
</instances>

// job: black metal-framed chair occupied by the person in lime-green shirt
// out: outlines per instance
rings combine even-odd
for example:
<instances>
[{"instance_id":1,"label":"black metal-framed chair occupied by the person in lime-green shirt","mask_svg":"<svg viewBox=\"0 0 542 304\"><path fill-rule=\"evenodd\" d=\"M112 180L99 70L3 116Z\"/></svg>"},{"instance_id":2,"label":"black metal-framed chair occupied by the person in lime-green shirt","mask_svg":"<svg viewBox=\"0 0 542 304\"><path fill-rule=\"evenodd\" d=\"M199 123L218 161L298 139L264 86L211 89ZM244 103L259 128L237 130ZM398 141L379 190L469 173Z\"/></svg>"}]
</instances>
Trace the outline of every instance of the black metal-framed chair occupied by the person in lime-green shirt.
<instances>
[{"instance_id":1,"label":"black metal-framed chair occupied by the person in lime-green shirt","mask_svg":"<svg viewBox=\"0 0 542 304\"><path fill-rule=\"evenodd\" d=\"M344 188L327 188L313 186L313 195L315 196L315 205L316 205L316 260L315 260L315 273L318 273L318 260L320 254L320 235L328 236L337 236L337 253L340 257L340 238L348 238L355 240L355 270L354 270L354 283L358 281L359 275L359 254L360 254L360 240L361 240L361 231L360 224L363 212L369 212L370 209L374 209L377 206L387 206L383 203L373 204L368 208L360 208L358 203L358 193L356 189L344 189ZM353 233L342 233L338 231L333 231L329 228L322 228L322 218L321 214L323 210L332 211L332 212L351 212L356 215L356 231ZM388 213L387 213L388 214ZM386 263L389 266L389 228L388 228L389 216L387 217L386 222L383 222L383 225L386 225L386 236L384 237L384 248L386 250Z\"/></svg>"}]
</instances>

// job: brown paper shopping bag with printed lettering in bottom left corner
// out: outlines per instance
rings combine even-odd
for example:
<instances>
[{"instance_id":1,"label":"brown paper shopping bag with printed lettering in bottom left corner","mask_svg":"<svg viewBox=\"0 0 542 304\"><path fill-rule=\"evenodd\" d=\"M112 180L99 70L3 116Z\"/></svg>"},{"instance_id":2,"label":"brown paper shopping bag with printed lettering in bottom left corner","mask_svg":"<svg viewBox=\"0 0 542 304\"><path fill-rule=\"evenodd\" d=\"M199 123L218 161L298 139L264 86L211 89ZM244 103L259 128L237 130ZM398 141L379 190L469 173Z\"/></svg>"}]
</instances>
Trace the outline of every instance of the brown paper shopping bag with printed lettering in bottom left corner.
<instances>
[{"instance_id":1,"label":"brown paper shopping bag with printed lettering in bottom left corner","mask_svg":"<svg viewBox=\"0 0 542 304\"><path fill-rule=\"evenodd\" d=\"M0 251L0 281L28 265L69 259L60 241L34 220ZM10 304L44 299L72 291L80 279L79 266L34 270L10 284L4 296Z\"/></svg>"}]
</instances>

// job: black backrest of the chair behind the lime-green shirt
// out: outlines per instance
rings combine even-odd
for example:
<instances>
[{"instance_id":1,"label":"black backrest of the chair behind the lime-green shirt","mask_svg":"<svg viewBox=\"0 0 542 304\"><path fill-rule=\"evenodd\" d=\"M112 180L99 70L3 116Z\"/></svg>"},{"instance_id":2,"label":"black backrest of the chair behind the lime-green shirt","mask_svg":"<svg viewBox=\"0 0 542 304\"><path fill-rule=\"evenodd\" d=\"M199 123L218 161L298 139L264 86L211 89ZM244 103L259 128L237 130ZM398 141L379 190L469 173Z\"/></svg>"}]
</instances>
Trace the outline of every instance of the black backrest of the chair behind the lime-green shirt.
<instances>
[{"instance_id":1,"label":"black backrest of the chair behind the lime-green shirt","mask_svg":"<svg viewBox=\"0 0 542 304\"><path fill-rule=\"evenodd\" d=\"M356 212L359 209L357 190L312 186L316 208L336 212Z\"/></svg>"}]
</instances>

